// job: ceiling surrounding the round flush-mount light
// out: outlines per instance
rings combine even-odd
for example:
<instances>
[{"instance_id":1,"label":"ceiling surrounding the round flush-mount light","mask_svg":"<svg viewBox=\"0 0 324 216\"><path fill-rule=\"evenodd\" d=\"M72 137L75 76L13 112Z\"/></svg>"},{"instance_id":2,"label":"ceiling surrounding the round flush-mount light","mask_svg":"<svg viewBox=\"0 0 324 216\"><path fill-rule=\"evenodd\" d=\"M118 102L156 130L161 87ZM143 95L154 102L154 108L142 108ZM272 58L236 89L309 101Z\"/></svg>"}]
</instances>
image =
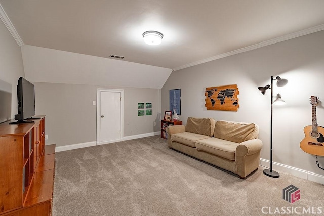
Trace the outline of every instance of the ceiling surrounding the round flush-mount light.
<instances>
[{"instance_id":1,"label":"ceiling surrounding the round flush-mount light","mask_svg":"<svg viewBox=\"0 0 324 216\"><path fill-rule=\"evenodd\" d=\"M22 43L182 69L324 30L322 0L0 0ZM142 33L164 34L146 45Z\"/></svg>"}]
</instances>

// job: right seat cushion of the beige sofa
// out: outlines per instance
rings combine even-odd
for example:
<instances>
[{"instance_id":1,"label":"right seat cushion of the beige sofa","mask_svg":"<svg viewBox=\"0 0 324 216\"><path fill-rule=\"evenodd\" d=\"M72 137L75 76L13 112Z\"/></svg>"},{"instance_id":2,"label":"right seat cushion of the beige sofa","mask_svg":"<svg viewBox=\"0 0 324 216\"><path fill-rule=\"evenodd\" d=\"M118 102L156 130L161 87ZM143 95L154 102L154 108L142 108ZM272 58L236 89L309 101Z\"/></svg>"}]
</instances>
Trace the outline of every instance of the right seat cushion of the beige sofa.
<instances>
[{"instance_id":1,"label":"right seat cushion of the beige sofa","mask_svg":"<svg viewBox=\"0 0 324 216\"><path fill-rule=\"evenodd\" d=\"M239 143L211 137L196 142L196 148L228 160L235 160L235 151Z\"/></svg>"}]
</instances>

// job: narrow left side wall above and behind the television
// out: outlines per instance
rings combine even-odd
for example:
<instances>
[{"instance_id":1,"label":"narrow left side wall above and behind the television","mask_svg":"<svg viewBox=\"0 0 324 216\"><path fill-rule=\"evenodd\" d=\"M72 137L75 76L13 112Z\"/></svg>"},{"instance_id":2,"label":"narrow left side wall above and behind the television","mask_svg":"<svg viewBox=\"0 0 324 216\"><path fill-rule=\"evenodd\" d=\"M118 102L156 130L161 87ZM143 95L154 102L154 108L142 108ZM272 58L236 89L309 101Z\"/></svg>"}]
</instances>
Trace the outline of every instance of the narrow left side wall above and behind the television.
<instances>
[{"instance_id":1,"label":"narrow left side wall above and behind the television","mask_svg":"<svg viewBox=\"0 0 324 216\"><path fill-rule=\"evenodd\" d=\"M21 49L3 22L0 22L0 80L12 85L11 116L17 114L17 84L25 77Z\"/></svg>"}]
</instances>

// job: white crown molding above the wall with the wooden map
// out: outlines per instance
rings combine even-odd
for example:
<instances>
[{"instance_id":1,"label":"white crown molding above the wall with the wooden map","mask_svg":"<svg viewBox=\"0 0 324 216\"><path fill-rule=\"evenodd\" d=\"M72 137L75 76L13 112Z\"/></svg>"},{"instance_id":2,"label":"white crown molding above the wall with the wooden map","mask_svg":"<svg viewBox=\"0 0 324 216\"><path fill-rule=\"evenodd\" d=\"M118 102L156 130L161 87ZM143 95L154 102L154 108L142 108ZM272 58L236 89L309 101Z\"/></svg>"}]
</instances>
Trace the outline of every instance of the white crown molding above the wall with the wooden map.
<instances>
[{"instance_id":1,"label":"white crown molding above the wall with the wooden map","mask_svg":"<svg viewBox=\"0 0 324 216\"><path fill-rule=\"evenodd\" d=\"M210 58L207 58L207 59L202 59L202 60L199 60L199 61L195 61L195 62L186 64L186 65L183 65L183 66L180 66L180 67L173 68L173 71L181 70L181 69L188 68L188 67L195 66L195 65L199 65L199 64L203 64L203 63L210 62L210 61L213 61L213 60L216 60L216 59L221 59L221 58L224 58L224 57L227 57L227 56L231 56L231 55L235 55L235 54L239 54L239 53L244 53L244 52L247 52L247 51L250 51L250 50L255 50L255 49L258 49L258 48L261 48L261 47L276 44L278 42L282 42L282 41L285 41L285 40L293 39L293 38L296 38L296 37L304 36L306 34L311 34L311 33L315 33L317 31L322 31L322 30L324 30L324 24L318 25L318 26L315 26L315 27L312 27L312 28L308 28L308 29L305 29L305 30L297 31L295 33L287 34L287 35L277 37L277 38L274 38L274 39L266 40L266 41L260 42L259 44L255 44L255 45L251 45L251 46L241 48L241 49L238 49L238 50L223 53L223 54L213 56L213 57L210 57Z\"/></svg>"}]
</instances>

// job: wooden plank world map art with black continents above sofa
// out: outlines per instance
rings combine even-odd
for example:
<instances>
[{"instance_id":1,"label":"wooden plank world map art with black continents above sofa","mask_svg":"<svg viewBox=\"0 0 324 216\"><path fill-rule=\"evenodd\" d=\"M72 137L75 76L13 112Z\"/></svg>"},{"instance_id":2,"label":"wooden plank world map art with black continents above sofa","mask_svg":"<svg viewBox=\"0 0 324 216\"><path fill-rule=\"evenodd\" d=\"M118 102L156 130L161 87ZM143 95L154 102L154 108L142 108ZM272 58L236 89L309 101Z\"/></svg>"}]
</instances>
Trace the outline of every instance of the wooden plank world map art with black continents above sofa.
<instances>
[{"instance_id":1,"label":"wooden plank world map art with black continents above sofa","mask_svg":"<svg viewBox=\"0 0 324 216\"><path fill-rule=\"evenodd\" d=\"M238 94L236 84L206 88L205 107L208 110L237 111L239 108Z\"/></svg>"}]
</instances>

